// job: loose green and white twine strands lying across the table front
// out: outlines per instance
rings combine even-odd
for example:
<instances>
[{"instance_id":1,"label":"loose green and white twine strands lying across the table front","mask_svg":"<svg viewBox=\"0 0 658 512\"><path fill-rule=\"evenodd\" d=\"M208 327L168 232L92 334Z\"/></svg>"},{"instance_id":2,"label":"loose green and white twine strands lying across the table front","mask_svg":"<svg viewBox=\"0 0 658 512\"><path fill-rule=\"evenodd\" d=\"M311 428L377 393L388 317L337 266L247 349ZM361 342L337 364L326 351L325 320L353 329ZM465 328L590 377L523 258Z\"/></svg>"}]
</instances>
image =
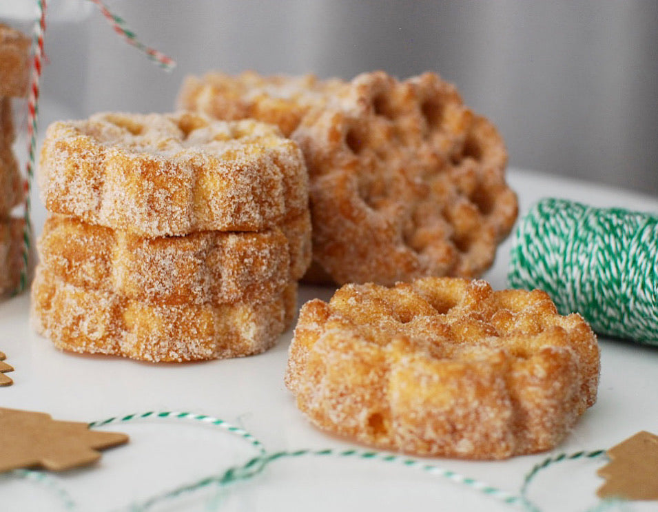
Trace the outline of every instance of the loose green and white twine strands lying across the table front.
<instances>
[{"instance_id":1,"label":"loose green and white twine strands lying across the table front","mask_svg":"<svg viewBox=\"0 0 658 512\"><path fill-rule=\"evenodd\" d=\"M238 439L247 442L251 447L256 449L258 454L245 462L244 464L230 467L221 473L216 473L214 475L209 475L205 478L196 480L196 482L191 482L188 484L183 484L174 489L170 489L154 495L151 498L142 500L139 502L133 502L128 506L125 506L121 510L131 511L131 512L143 512L148 509L152 509L156 504L163 504L175 500L176 498L181 497L182 495L193 493L195 491L201 491L202 489L209 489L216 487L218 490L227 489L227 487L236 484L237 482L253 480L257 475L262 473L270 464L285 459L298 459L304 457L320 457L320 458L337 458L337 459L349 459L349 460L375 460L387 464L398 464L400 467L415 469L422 471L429 475L438 476L444 478L455 484L463 485L464 487L477 491L482 495L485 495L488 498L502 502L503 504L509 506L520 507L523 510L529 512L540 512L541 509L535 503L531 502L528 499L527 493L528 488L530 487L531 482L535 480L537 474L541 471L544 471L548 467L551 467L555 464L575 461L575 460L595 460L597 458L604 458L605 452L603 450L597 451L579 451L577 453L572 453L570 455L562 453L555 455L551 458L547 458L544 462L536 464L531 471L529 471L523 479L520 492L510 493L499 489L495 486L486 484L481 480L475 478L466 477L455 471L449 469L444 469L439 467L436 464L430 464L424 460L416 460L409 458L406 455L397 455L394 453L385 453L380 451L371 451L363 449L300 449L294 451L273 451L269 452L265 450L263 444L257 440L251 433L241 429L240 427L235 427L234 425L226 422L225 420L220 420L218 418L213 418L212 416L207 416L203 414L195 414L189 412L176 412L176 411L163 411L163 412L154 412L149 411L145 413L134 413L128 414L126 416L116 416L113 418L108 418L106 420L95 421L89 424L90 428L103 427L108 424L117 424L117 423L126 423L137 420L190 420L197 423L205 423L217 427L220 430L223 430L227 433L236 436ZM61 504L68 511L75 511L77 509L76 502L71 497L70 493L56 480L56 478L50 476L45 471L33 471L26 469L19 469L10 471L8 473L11 476L16 478L21 478L28 480L30 482L37 482L41 484L50 491L54 492ZM626 502L621 502L619 500L610 501L602 500L593 508L588 509L588 512L603 512L610 509L620 509L624 506ZM219 504L216 503L214 509L216 509Z\"/></svg>"}]
</instances>

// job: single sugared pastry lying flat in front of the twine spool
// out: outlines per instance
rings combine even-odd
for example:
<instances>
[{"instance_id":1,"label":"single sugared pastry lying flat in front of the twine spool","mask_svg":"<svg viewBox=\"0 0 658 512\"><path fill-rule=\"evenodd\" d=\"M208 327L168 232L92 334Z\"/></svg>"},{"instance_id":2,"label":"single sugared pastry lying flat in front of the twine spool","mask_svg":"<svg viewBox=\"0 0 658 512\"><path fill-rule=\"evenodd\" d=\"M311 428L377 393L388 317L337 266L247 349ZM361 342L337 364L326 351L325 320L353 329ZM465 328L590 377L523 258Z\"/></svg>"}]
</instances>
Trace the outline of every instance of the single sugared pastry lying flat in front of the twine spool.
<instances>
[{"instance_id":1,"label":"single sugared pastry lying flat in front of the twine spool","mask_svg":"<svg viewBox=\"0 0 658 512\"><path fill-rule=\"evenodd\" d=\"M309 301L285 376L321 429L468 459L552 449L595 403L598 381L593 331L543 291L431 277Z\"/></svg>"}]
</instances>

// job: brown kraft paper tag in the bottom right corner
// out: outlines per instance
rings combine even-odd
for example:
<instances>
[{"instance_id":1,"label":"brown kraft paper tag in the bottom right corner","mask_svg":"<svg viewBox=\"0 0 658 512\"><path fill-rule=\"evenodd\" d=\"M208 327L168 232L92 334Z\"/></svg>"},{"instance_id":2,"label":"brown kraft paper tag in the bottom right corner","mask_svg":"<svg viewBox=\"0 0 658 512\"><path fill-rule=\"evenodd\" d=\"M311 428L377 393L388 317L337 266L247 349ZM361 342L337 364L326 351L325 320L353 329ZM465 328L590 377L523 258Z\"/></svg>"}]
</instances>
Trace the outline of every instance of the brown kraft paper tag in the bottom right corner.
<instances>
[{"instance_id":1,"label":"brown kraft paper tag in the bottom right corner","mask_svg":"<svg viewBox=\"0 0 658 512\"><path fill-rule=\"evenodd\" d=\"M606 479L599 498L658 500L658 436L638 432L606 453L611 461L597 471Z\"/></svg>"}]
</instances>

